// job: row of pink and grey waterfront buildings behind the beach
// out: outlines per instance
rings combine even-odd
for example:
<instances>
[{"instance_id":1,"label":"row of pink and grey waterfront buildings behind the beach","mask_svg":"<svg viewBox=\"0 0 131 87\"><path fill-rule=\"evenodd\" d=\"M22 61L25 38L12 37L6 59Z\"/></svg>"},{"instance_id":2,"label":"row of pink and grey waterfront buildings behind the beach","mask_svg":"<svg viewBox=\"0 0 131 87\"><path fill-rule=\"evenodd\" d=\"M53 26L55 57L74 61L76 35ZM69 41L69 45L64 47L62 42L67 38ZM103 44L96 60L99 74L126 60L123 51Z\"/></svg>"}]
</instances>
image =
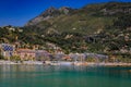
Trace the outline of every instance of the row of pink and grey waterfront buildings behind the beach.
<instances>
[{"instance_id":1,"label":"row of pink and grey waterfront buildings behind the beach","mask_svg":"<svg viewBox=\"0 0 131 87\"><path fill-rule=\"evenodd\" d=\"M46 63L51 64L52 61L61 62L106 62L108 55L96 54L96 53L70 53L66 54L59 47L56 47L52 44L48 44L49 49L52 51L40 50L37 46L34 46L33 49L20 48L16 45L10 44L0 44L0 64L19 64L19 63L31 63L31 64L40 64ZM4 62L3 62L4 61ZM38 62L39 61L39 62ZM68 64L68 63L67 63ZM73 64L73 63L72 63Z\"/></svg>"}]
</instances>

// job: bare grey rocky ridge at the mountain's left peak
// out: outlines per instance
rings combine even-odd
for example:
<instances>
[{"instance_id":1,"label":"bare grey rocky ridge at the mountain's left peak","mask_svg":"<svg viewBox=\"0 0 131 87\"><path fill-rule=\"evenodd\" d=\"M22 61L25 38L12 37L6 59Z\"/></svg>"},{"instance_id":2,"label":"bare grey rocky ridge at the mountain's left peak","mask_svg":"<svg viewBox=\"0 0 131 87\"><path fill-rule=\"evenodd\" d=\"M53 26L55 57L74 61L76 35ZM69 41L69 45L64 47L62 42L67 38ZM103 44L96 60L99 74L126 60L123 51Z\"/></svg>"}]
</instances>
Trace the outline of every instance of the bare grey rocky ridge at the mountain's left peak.
<instances>
[{"instance_id":1,"label":"bare grey rocky ridge at the mountain's left peak","mask_svg":"<svg viewBox=\"0 0 131 87\"><path fill-rule=\"evenodd\" d=\"M25 26L36 25L37 23L39 23L41 21L47 21L49 18L53 18L53 17L57 17L62 14L69 14L71 11L73 11L73 9L68 8L68 7L62 7L60 9L50 7L49 9L47 9L46 11L40 13L38 16L31 20L27 24L25 24Z\"/></svg>"}]
</instances>

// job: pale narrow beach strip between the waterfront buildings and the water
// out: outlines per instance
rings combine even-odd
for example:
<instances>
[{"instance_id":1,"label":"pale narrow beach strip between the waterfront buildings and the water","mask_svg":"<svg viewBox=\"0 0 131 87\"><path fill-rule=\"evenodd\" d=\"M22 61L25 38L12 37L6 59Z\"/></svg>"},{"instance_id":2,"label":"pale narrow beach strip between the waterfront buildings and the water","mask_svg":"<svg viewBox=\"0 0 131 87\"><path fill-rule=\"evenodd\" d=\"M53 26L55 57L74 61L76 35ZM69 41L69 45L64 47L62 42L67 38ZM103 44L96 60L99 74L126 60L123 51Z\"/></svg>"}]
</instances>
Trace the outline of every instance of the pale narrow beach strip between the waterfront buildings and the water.
<instances>
[{"instance_id":1,"label":"pale narrow beach strip between the waterfront buildings and the water","mask_svg":"<svg viewBox=\"0 0 131 87\"><path fill-rule=\"evenodd\" d=\"M53 63L52 61L23 61L21 62L14 62L14 61L4 61L0 60L0 65L13 65L13 64L27 64L27 65L76 65L76 66L131 66L131 63L95 63L95 62L56 62Z\"/></svg>"}]
</instances>

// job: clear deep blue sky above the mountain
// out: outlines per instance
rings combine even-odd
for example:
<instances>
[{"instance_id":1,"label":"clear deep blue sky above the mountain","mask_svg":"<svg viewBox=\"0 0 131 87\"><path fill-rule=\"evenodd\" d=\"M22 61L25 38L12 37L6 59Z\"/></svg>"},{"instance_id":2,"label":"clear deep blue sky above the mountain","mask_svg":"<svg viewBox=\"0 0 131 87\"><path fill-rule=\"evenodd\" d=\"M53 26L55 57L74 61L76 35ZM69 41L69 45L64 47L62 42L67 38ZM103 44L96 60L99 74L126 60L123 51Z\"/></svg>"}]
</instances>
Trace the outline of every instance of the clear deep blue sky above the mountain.
<instances>
[{"instance_id":1,"label":"clear deep blue sky above the mountain","mask_svg":"<svg viewBox=\"0 0 131 87\"><path fill-rule=\"evenodd\" d=\"M23 26L49 7L82 8L88 3L131 0L0 0L0 26Z\"/></svg>"}]
</instances>

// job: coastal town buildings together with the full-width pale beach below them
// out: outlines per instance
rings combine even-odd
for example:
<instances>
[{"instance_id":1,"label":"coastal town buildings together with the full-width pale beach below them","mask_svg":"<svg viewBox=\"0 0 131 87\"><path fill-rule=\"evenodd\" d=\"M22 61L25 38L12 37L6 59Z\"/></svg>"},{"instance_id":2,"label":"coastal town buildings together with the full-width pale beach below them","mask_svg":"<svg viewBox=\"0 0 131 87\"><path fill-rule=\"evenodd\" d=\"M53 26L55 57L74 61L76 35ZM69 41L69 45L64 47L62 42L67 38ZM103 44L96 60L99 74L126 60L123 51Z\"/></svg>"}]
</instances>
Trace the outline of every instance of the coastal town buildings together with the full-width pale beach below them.
<instances>
[{"instance_id":1,"label":"coastal town buildings together with the full-width pale beach below them","mask_svg":"<svg viewBox=\"0 0 131 87\"><path fill-rule=\"evenodd\" d=\"M60 47L53 44L47 45L48 48L39 49L39 46L25 48L19 42L0 44L0 64L131 65L107 54L86 52L66 54Z\"/></svg>"}]
</instances>

